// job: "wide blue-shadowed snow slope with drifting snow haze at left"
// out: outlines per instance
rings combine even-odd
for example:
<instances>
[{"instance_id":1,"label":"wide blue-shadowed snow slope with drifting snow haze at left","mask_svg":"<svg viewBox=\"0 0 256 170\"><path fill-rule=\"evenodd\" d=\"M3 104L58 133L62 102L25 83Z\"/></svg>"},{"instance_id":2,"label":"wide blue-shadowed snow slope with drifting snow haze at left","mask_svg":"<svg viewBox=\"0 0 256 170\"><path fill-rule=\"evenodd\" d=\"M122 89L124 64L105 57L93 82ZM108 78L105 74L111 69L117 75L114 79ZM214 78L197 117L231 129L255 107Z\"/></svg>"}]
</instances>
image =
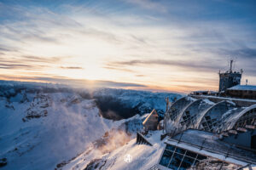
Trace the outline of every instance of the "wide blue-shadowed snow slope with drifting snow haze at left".
<instances>
[{"instance_id":1,"label":"wide blue-shadowed snow slope with drifting snow haze at left","mask_svg":"<svg viewBox=\"0 0 256 170\"><path fill-rule=\"evenodd\" d=\"M47 108L34 94L34 102L21 104L14 99L9 105L15 110L6 108L6 99L1 97L0 158L8 160L3 169L54 169L57 163L83 152L90 142L125 122L104 119L94 99L63 93L44 94L44 97L50 103ZM74 100L79 103L73 103ZM28 111L44 110L48 111L47 116L22 121Z\"/></svg>"}]
</instances>

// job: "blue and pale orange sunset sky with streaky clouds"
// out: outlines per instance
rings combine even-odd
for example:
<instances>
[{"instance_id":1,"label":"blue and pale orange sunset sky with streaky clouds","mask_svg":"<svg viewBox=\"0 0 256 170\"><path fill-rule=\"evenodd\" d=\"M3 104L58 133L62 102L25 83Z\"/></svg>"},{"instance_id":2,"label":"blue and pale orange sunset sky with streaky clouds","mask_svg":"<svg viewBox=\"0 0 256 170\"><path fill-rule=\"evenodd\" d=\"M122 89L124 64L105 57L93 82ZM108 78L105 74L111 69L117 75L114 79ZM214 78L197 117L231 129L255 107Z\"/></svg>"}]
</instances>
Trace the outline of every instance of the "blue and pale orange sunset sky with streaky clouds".
<instances>
[{"instance_id":1,"label":"blue and pale orange sunset sky with streaky clouds","mask_svg":"<svg viewBox=\"0 0 256 170\"><path fill-rule=\"evenodd\" d=\"M0 79L188 93L256 84L256 1L0 0Z\"/></svg>"}]
</instances>

